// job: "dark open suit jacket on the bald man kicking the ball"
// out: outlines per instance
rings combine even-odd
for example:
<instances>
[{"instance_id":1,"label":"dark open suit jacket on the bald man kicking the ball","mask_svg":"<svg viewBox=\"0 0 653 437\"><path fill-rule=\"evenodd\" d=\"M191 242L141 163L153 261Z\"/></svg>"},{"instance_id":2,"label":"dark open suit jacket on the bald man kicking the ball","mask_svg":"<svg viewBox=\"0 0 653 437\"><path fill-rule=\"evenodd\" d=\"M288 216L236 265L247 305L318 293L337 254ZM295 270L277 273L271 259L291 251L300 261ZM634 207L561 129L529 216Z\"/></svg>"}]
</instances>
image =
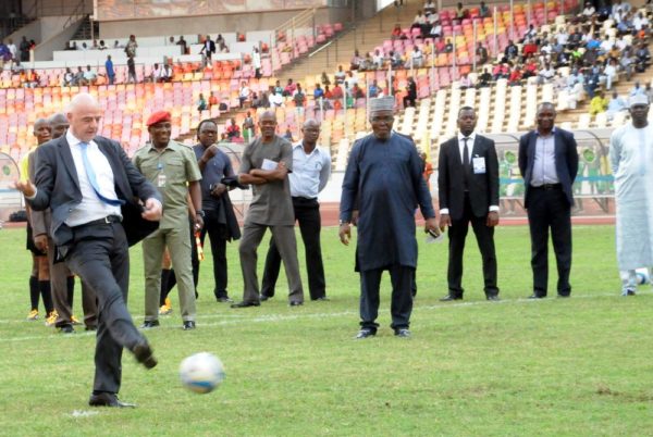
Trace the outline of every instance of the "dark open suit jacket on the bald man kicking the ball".
<instances>
[{"instance_id":1,"label":"dark open suit jacket on the bald man kicking the ball","mask_svg":"<svg viewBox=\"0 0 653 437\"><path fill-rule=\"evenodd\" d=\"M94 141L111 165L118 198L125 201L122 207L122 224L132 246L159 227L158 222L150 222L140 216L141 205L138 199L145 201L156 198L161 201L161 195L136 170L116 141L103 137L96 137ZM64 222L70 212L82 202L73 154L65 136L40 146L35 153L35 185L38 189L36 197L28 202L37 211L51 208L50 236L59 248L59 254L65 257L73 240L73 230Z\"/></svg>"}]
</instances>

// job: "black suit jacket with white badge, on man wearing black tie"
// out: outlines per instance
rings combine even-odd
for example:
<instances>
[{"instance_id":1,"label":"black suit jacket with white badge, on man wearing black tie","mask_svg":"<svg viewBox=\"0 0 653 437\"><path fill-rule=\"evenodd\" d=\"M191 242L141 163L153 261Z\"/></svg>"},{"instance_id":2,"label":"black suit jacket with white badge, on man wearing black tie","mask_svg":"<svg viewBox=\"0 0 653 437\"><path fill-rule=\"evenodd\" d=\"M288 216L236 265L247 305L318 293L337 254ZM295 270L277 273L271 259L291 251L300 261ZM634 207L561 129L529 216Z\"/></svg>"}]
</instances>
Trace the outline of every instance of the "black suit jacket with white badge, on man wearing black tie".
<instances>
[{"instance_id":1,"label":"black suit jacket with white badge, on man wearing black tie","mask_svg":"<svg viewBox=\"0 0 653 437\"><path fill-rule=\"evenodd\" d=\"M468 145L469 146L469 145ZM485 173L473 173L473 159L485 160ZM491 205L498 205L498 160L494 141L476 135L469 160L469 202L471 212L477 217L488 215ZM438 163L438 192L440 209L447 208L452 220L459 220L465 208L463 161L458 137L454 137L440 146Z\"/></svg>"}]
</instances>

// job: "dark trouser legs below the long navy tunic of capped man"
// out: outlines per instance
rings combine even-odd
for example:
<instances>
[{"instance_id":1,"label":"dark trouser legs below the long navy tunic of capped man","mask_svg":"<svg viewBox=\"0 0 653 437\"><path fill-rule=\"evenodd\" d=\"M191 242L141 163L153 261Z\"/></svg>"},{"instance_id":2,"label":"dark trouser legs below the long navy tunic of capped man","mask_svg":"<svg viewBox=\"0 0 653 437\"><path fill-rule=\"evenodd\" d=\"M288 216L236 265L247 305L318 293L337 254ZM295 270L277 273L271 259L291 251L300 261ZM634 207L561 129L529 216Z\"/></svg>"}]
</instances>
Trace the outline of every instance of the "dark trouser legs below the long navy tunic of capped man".
<instances>
[{"instance_id":1,"label":"dark trouser legs below the long navy tunic of capped man","mask_svg":"<svg viewBox=\"0 0 653 437\"><path fill-rule=\"evenodd\" d=\"M393 329L407 328L412 312L412 283L415 269L404 265L392 265L389 269L374 269L360 272L360 326L377 330L379 324L379 288L384 270L390 272L392 282L392 301L390 313Z\"/></svg>"}]
</instances>

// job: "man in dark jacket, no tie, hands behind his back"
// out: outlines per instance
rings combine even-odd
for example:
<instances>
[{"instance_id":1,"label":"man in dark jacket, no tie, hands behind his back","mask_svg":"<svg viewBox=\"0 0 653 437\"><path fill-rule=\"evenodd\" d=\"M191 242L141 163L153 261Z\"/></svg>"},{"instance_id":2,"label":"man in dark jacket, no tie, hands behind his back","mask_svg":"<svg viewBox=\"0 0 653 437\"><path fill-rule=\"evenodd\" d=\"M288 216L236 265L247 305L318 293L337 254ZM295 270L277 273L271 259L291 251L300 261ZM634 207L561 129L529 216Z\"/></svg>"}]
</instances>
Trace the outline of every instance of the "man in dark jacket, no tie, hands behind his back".
<instances>
[{"instance_id":1,"label":"man in dark jacket, no tie, hands behind his back","mask_svg":"<svg viewBox=\"0 0 653 437\"><path fill-rule=\"evenodd\" d=\"M558 271L557 294L571 294L571 185L578 173L578 151L574 134L554 127L553 103L541 103L538 128L519 139L519 171L526 185L523 205L531 234L533 294L546 297L549 280L549 228Z\"/></svg>"}]
</instances>

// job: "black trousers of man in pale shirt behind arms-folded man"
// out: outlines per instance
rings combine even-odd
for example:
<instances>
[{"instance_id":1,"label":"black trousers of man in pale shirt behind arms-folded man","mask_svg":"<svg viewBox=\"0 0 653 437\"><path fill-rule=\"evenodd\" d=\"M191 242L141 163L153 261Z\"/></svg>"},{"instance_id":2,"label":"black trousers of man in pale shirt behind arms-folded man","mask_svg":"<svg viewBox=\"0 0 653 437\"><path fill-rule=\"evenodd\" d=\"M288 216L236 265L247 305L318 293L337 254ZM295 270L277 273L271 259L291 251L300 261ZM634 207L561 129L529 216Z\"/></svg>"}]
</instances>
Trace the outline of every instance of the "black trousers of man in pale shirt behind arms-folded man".
<instances>
[{"instance_id":1,"label":"black trousers of man in pale shirt behind arms-folded man","mask_svg":"<svg viewBox=\"0 0 653 437\"><path fill-rule=\"evenodd\" d=\"M322 247L320 244L320 232L322 218L320 217L320 203L317 199L301 197L293 198L295 220L299 223L299 232L304 241L306 252L306 271L308 273L308 291L312 300L326 295L324 280L324 263L322 261ZM261 295L274 296L274 287L281 269L281 254L274 245L274 238L270 239L270 249L266 257L266 269L261 285Z\"/></svg>"}]
</instances>

